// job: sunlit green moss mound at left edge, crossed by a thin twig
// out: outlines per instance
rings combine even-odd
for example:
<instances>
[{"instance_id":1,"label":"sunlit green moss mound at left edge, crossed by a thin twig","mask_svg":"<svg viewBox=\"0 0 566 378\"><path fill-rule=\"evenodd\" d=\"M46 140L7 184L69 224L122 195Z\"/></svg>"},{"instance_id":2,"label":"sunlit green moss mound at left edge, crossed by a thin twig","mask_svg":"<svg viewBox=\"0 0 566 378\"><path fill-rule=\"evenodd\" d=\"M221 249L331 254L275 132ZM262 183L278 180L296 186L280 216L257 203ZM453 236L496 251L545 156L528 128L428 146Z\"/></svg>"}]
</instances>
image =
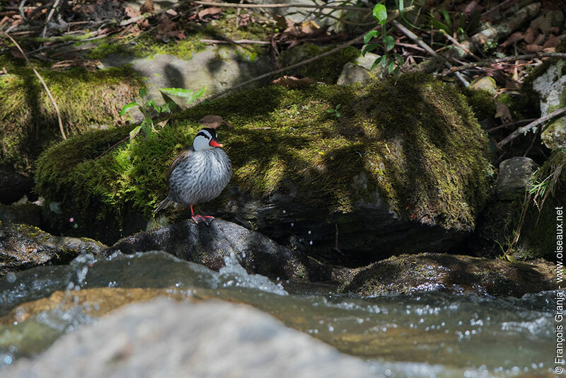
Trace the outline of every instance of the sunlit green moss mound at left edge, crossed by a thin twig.
<instances>
[{"instance_id":1,"label":"sunlit green moss mound at left edge, crossed by a thin twig","mask_svg":"<svg viewBox=\"0 0 566 378\"><path fill-rule=\"evenodd\" d=\"M60 140L57 113L33 71L0 57L11 74L0 77L0 165L18 171L32 168L48 144ZM52 71L37 67L61 113L67 137L113 124L120 106L142 85L131 69Z\"/></svg>"}]
</instances>

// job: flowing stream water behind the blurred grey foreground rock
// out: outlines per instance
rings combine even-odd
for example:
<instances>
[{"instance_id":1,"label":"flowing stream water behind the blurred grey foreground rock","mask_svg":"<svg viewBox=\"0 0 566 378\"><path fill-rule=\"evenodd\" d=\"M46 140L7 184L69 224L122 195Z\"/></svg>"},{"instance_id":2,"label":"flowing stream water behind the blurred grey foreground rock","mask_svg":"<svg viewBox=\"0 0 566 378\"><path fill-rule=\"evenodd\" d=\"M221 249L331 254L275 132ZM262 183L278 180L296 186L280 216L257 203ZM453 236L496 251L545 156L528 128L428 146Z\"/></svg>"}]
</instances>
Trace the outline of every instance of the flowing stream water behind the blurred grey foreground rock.
<instances>
[{"instance_id":1,"label":"flowing stream water behind the blurred grey foreground rock","mask_svg":"<svg viewBox=\"0 0 566 378\"><path fill-rule=\"evenodd\" d=\"M250 304L366 360L386 377L533 377L550 375L553 367L555 292L521 299L443 292L339 295L326 285L248 275L233 256L215 272L156 251L108 259L83 255L70 265L1 278L0 375L18 358L41 353L64 333L96 321L98 311L117 306L110 299L135 297L140 289L141 297Z\"/></svg>"}]
</instances>

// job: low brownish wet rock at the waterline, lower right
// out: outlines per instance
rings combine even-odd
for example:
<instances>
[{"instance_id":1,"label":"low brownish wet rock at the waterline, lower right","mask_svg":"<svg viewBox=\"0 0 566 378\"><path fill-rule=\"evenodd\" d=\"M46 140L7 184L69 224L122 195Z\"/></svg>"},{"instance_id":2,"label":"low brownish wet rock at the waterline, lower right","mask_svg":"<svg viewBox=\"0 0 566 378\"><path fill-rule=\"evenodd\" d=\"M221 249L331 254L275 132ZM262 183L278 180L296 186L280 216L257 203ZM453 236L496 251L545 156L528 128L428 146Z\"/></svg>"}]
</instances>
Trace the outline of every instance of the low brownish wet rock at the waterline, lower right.
<instances>
[{"instance_id":1,"label":"low brownish wet rock at the waterline, lower right","mask_svg":"<svg viewBox=\"0 0 566 378\"><path fill-rule=\"evenodd\" d=\"M558 288L555 266L545 260L509 263L440 253L393 256L340 278L343 292L371 296L434 290L521 297Z\"/></svg>"}]
</instances>

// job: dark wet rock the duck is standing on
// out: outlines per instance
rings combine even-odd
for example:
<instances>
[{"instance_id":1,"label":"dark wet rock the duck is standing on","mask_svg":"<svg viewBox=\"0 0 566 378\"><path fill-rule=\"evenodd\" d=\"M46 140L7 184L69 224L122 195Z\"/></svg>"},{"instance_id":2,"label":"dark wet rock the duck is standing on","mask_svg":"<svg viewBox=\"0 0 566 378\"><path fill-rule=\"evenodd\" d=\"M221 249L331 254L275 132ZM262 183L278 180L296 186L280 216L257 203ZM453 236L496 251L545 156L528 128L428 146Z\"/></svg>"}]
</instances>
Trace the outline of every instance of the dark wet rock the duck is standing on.
<instances>
[{"instance_id":1,"label":"dark wet rock the duck is standing on","mask_svg":"<svg viewBox=\"0 0 566 378\"><path fill-rule=\"evenodd\" d=\"M302 253L221 219L214 219L209 227L185 221L154 231L139 232L118 241L104 253L108 256L115 251L135 253L153 250L166 251L214 270L224 266L224 256L234 253L248 273L272 279L308 280L308 263Z\"/></svg>"}]
</instances>

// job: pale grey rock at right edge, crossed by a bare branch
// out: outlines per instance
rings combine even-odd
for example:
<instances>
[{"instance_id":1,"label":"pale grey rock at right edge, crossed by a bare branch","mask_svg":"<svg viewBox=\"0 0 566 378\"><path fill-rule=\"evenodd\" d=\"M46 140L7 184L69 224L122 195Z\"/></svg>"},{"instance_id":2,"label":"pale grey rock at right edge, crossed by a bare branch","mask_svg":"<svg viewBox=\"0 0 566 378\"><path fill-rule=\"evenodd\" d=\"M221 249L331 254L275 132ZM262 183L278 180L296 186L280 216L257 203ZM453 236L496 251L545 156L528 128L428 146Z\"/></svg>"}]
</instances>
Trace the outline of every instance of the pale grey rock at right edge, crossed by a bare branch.
<instances>
[{"instance_id":1,"label":"pale grey rock at right edge, crossed by a bare branch","mask_svg":"<svg viewBox=\"0 0 566 378\"><path fill-rule=\"evenodd\" d=\"M548 67L544 74L533 81L533 89L541 95L541 116L566 106L566 75L563 74L563 60ZM541 134L549 149L566 147L566 116L554 120Z\"/></svg>"}]
</instances>

